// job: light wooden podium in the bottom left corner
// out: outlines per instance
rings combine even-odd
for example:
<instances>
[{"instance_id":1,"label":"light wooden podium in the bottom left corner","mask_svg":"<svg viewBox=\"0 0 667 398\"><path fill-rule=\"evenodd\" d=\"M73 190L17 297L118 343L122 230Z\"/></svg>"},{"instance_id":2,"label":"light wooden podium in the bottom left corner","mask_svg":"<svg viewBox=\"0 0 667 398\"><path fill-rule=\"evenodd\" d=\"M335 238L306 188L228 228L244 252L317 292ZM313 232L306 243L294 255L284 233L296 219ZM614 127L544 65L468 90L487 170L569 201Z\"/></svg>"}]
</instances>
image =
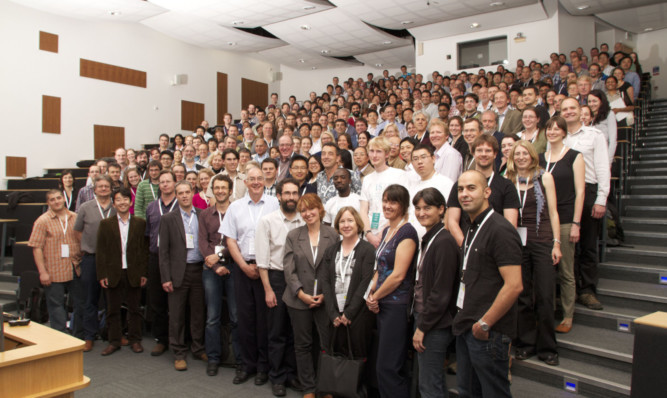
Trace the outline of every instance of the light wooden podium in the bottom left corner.
<instances>
[{"instance_id":1,"label":"light wooden podium in the bottom left corner","mask_svg":"<svg viewBox=\"0 0 667 398\"><path fill-rule=\"evenodd\" d=\"M90 384L83 375L82 340L36 322L3 326L0 397L73 397Z\"/></svg>"}]
</instances>

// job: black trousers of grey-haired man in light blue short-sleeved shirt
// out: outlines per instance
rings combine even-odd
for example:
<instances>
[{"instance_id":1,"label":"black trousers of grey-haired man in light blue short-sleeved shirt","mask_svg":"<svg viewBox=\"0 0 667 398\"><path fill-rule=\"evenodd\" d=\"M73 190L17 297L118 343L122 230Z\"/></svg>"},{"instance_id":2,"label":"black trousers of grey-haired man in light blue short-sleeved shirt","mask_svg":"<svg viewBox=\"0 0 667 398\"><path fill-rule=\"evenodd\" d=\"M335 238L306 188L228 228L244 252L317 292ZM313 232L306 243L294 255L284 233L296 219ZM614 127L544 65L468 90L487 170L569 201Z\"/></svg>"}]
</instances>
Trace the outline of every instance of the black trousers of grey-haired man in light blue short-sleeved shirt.
<instances>
[{"instance_id":1,"label":"black trousers of grey-haired man in light blue short-sleeved shirt","mask_svg":"<svg viewBox=\"0 0 667 398\"><path fill-rule=\"evenodd\" d=\"M239 344L243 370L247 373L269 371L266 302L261 279L250 279L239 268L233 272Z\"/></svg>"}]
</instances>

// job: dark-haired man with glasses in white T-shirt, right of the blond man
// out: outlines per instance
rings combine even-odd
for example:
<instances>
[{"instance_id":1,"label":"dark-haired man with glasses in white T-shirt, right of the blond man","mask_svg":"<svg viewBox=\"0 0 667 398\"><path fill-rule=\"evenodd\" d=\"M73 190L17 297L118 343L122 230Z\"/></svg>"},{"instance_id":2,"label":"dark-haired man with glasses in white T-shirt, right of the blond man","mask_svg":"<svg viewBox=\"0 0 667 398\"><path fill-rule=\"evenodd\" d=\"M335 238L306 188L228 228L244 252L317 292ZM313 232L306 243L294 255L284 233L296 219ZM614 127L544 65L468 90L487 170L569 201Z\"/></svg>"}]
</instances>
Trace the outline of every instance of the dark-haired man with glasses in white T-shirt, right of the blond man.
<instances>
[{"instance_id":1,"label":"dark-haired man with glasses in white T-shirt, right of the blond man","mask_svg":"<svg viewBox=\"0 0 667 398\"><path fill-rule=\"evenodd\" d=\"M454 181L435 171L435 152L431 145L419 144L412 150L412 166L414 167L415 172L419 175L419 179L411 180L408 186L408 191L410 192L410 207L412 207L412 199L417 192L425 188L435 188L442 193L443 197L449 197L449 192L452 190ZM417 230L419 238L421 239L426 233L426 228L422 227L417 221L414 209L411 209L409 214L410 222Z\"/></svg>"}]
</instances>

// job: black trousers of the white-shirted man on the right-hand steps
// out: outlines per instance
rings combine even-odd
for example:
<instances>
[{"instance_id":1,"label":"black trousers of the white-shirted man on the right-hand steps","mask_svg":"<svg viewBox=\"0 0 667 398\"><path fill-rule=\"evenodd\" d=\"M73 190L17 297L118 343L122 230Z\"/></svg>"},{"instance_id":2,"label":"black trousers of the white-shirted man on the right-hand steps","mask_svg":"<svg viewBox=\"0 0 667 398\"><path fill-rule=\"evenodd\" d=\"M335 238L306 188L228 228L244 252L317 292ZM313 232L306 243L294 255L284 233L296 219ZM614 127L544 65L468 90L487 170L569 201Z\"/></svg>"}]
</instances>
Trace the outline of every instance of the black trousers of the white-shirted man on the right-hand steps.
<instances>
[{"instance_id":1,"label":"black trousers of the white-shirted man on the right-hand steps","mask_svg":"<svg viewBox=\"0 0 667 398\"><path fill-rule=\"evenodd\" d=\"M597 184L586 184L584 210L581 213L581 238L574 257L577 294L595 293L598 283L598 237L602 219L591 217L597 191Z\"/></svg>"}]
</instances>

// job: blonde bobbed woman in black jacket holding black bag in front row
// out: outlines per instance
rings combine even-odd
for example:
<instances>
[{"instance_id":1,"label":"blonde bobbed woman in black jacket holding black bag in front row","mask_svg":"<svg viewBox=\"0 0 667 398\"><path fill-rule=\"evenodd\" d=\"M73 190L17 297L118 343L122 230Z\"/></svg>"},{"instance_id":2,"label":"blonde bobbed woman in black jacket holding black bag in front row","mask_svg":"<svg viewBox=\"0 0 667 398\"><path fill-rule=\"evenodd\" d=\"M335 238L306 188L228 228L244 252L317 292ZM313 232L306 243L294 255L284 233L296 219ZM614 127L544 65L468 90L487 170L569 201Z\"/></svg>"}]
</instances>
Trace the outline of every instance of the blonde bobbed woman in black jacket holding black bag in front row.
<instances>
[{"instance_id":1,"label":"blonde bobbed woman in black jacket holding black bag in front row","mask_svg":"<svg viewBox=\"0 0 667 398\"><path fill-rule=\"evenodd\" d=\"M346 326L352 339L352 354L365 358L373 336L375 314L366 307L364 293L373 278L375 248L359 238L364 229L353 207L343 207L333 223L343 240L324 253L322 292L334 328ZM335 352L347 352L347 333L341 329L333 342Z\"/></svg>"}]
</instances>

